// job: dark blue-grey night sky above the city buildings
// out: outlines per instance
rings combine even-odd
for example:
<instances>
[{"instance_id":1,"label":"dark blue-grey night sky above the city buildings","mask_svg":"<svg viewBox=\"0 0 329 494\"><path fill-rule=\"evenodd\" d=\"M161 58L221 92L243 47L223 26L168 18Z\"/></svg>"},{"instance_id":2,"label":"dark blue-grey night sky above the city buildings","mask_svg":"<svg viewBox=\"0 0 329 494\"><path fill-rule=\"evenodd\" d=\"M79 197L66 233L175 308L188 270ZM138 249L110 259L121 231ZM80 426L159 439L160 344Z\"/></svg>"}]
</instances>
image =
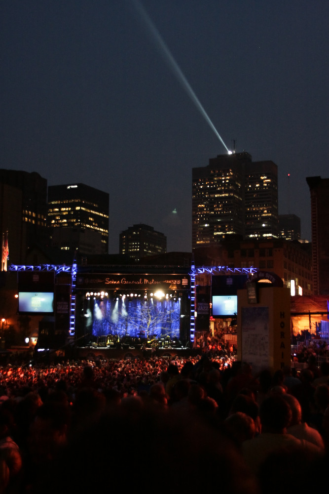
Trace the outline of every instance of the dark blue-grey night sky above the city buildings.
<instances>
[{"instance_id":1,"label":"dark blue-grey night sky above the city buildings","mask_svg":"<svg viewBox=\"0 0 329 494\"><path fill-rule=\"evenodd\" d=\"M226 153L173 60L225 145L278 165L279 213L310 240L328 0L1 0L0 17L0 167L109 192L110 253L135 223L190 251L192 167Z\"/></svg>"}]
</instances>

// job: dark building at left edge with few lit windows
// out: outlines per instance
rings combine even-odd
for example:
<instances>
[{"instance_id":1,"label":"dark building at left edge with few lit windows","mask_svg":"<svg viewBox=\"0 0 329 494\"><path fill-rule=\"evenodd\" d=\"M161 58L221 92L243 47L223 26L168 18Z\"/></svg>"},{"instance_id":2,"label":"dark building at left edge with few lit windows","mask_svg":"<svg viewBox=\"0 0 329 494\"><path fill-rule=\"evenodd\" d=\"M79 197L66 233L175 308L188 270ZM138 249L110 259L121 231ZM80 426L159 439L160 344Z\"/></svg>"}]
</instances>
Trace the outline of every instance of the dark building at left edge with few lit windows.
<instances>
[{"instance_id":1,"label":"dark building at left edge with few lit windows","mask_svg":"<svg viewBox=\"0 0 329 494\"><path fill-rule=\"evenodd\" d=\"M47 180L37 172L0 169L0 233L8 232L10 264L47 242Z\"/></svg>"}]
</instances>

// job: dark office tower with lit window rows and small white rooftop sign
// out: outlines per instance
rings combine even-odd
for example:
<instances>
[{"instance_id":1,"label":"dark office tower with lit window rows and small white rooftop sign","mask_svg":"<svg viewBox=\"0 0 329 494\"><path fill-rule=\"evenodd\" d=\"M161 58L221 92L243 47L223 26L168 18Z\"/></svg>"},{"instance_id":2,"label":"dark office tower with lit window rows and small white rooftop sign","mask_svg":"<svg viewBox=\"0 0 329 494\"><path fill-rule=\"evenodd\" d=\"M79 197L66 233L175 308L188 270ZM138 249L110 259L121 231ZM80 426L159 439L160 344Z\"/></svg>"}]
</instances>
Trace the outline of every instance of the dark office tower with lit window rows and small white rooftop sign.
<instances>
[{"instance_id":1,"label":"dark office tower with lit window rows and small white rooftop sign","mask_svg":"<svg viewBox=\"0 0 329 494\"><path fill-rule=\"evenodd\" d=\"M80 254L109 250L109 194L74 183L48 187L51 245Z\"/></svg>"}]
</instances>

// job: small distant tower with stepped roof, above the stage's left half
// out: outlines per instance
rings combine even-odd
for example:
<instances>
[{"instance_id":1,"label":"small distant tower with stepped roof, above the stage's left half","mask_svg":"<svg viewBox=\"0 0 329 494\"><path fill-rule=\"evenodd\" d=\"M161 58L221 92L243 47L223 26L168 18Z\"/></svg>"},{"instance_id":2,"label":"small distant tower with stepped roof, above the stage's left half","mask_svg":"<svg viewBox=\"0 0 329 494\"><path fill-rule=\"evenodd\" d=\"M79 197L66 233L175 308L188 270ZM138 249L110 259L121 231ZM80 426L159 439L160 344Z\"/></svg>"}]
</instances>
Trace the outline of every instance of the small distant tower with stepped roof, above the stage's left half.
<instances>
[{"instance_id":1,"label":"small distant tower with stepped roof, above the stage's left half","mask_svg":"<svg viewBox=\"0 0 329 494\"><path fill-rule=\"evenodd\" d=\"M121 232L119 243L120 253L136 261L148 255L163 254L167 250L167 237L142 223Z\"/></svg>"}]
</instances>

